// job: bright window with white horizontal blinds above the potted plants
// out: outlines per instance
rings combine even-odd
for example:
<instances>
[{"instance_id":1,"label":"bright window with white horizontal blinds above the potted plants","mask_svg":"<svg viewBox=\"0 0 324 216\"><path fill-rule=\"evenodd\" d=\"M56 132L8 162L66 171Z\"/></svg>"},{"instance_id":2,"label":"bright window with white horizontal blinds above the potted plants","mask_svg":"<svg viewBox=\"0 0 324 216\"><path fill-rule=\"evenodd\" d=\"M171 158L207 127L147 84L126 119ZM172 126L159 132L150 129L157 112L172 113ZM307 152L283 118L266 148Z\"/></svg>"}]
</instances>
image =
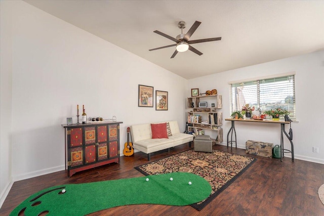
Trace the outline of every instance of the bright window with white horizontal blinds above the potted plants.
<instances>
[{"instance_id":1,"label":"bright window with white horizontal blinds above the potted plants","mask_svg":"<svg viewBox=\"0 0 324 216\"><path fill-rule=\"evenodd\" d=\"M261 111L281 108L296 120L295 75L230 83L230 111L241 110L245 104Z\"/></svg>"}]
</instances>

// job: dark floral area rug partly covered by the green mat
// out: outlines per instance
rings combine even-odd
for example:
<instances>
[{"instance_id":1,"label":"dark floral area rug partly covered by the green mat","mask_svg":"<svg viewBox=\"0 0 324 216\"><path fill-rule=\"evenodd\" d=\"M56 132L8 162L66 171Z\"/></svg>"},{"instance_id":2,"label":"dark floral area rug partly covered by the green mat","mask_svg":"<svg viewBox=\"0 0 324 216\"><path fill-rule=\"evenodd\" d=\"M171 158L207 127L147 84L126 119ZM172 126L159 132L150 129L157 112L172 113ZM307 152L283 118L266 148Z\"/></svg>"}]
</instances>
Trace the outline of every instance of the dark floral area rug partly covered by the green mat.
<instances>
[{"instance_id":1,"label":"dark floral area rug partly covered by the green mat","mask_svg":"<svg viewBox=\"0 0 324 216\"><path fill-rule=\"evenodd\" d=\"M191 204L203 209L235 179L247 170L256 159L220 150L212 153L195 152L193 149L135 167L145 176L170 172L191 172L206 179L212 186L211 195L198 203Z\"/></svg>"}]
</instances>

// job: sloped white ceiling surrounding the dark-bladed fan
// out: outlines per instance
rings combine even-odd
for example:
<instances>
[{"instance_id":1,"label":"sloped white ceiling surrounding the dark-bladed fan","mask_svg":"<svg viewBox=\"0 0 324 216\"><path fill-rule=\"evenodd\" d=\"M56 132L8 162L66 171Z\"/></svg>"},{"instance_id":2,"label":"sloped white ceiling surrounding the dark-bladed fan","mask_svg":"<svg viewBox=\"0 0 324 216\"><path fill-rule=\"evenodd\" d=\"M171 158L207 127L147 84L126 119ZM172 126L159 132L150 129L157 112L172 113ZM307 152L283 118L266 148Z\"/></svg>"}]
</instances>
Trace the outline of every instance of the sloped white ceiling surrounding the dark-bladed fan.
<instances>
[{"instance_id":1,"label":"sloped white ceiling surrounding the dark-bladed fan","mask_svg":"<svg viewBox=\"0 0 324 216\"><path fill-rule=\"evenodd\" d=\"M324 50L324 1L60 1L25 2L97 35L186 79ZM222 40L194 44L170 57L179 21L190 37Z\"/></svg>"}]
</instances>

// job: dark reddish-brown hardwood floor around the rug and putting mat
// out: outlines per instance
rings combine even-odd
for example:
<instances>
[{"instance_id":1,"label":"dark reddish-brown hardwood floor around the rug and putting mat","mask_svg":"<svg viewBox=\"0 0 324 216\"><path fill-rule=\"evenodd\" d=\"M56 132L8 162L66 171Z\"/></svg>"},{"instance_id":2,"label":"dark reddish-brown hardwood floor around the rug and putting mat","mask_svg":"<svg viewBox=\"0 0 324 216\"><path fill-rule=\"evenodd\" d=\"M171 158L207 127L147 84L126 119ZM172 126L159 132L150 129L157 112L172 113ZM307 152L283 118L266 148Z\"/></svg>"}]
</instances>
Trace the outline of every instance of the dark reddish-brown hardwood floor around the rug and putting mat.
<instances>
[{"instance_id":1,"label":"dark reddish-brown hardwood floor around the rug and putting mat","mask_svg":"<svg viewBox=\"0 0 324 216\"><path fill-rule=\"evenodd\" d=\"M226 146L214 149L231 151ZM151 155L151 161L189 149L187 144ZM90 215L324 215L324 205L318 198L318 188L324 184L324 164L286 157L280 159L246 154L244 149L233 153L256 157L257 161L218 195L203 210L191 206L128 205L109 208ZM86 183L143 176L134 169L147 163L147 156L137 152L121 157L120 164L77 172L67 178L66 171L15 182L2 208L1 215L10 212L22 201L39 190L62 184Z\"/></svg>"}]
</instances>

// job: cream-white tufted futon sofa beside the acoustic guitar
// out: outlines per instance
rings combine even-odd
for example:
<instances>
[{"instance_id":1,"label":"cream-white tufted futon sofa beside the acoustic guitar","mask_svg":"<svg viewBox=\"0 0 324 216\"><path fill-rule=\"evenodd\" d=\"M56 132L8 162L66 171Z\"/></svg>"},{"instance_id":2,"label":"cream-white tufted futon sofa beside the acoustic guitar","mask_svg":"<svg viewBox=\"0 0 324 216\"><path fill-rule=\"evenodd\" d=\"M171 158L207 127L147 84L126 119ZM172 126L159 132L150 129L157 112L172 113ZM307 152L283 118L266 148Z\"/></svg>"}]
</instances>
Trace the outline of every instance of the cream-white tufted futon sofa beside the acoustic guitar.
<instances>
[{"instance_id":1,"label":"cream-white tufted futon sofa beside the acoustic guitar","mask_svg":"<svg viewBox=\"0 0 324 216\"><path fill-rule=\"evenodd\" d=\"M147 160L150 160L150 153L152 152L169 149L171 147L175 147L185 143L189 143L189 147L191 147L193 135L180 133L177 121L168 122L170 124L172 136L168 136L168 138L161 139L152 139L151 123L136 124L131 126L133 146L135 149L146 153Z\"/></svg>"}]
</instances>

